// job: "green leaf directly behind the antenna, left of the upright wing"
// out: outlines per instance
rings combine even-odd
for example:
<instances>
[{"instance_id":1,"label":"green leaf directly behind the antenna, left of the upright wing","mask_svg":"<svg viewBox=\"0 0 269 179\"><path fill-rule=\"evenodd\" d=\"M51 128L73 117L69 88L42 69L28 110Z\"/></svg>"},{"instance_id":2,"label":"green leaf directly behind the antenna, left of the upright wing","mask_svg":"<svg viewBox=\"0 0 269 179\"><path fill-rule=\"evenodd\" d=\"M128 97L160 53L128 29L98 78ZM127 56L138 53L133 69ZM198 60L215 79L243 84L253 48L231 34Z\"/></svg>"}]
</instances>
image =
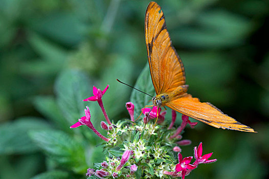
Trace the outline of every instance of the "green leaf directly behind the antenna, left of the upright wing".
<instances>
[{"instance_id":1,"label":"green leaf directly behind the antenna, left of the upright wing","mask_svg":"<svg viewBox=\"0 0 269 179\"><path fill-rule=\"evenodd\" d=\"M148 64L145 65L142 73L138 77L135 87L151 96L155 96ZM135 119L138 118L141 109L145 107L145 105L152 105L151 100L152 98L150 96L138 92L136 89L132 90L130 101L135 105Z\"/></svg>"}]
</instances>

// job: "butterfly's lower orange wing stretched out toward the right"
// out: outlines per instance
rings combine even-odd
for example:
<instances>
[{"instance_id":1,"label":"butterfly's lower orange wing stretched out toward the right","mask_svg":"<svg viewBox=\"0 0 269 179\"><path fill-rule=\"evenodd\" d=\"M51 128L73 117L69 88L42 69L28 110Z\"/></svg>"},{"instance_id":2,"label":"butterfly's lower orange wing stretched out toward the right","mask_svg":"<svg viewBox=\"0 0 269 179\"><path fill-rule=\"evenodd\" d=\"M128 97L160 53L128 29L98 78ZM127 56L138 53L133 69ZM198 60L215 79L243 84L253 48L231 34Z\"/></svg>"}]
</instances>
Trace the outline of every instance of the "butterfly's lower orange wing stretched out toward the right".
<instances>
[{"instance_id":1,"label":"butterfly's lower orange wing stretched out toward the right","mask_svg":"<svg viewBox=\"0 0 269 179\"><path fill-rule=\"evenodd\" d=\"M200 102L198 98L192 98L190 94L185 94L165 105L216 128L255 132L252 128L223 114L221 110L211 103Z\"/></svg>"}]
</instances>

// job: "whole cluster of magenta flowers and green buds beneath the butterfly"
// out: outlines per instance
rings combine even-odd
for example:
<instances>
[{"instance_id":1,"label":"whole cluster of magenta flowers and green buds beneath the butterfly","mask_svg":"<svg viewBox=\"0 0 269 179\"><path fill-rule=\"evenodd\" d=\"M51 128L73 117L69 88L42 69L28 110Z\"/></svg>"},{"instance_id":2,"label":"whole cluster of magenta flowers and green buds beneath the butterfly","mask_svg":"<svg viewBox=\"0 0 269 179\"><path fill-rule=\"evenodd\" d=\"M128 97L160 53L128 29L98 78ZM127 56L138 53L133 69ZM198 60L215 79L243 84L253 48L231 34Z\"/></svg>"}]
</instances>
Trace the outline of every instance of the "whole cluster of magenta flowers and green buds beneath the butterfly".
<instances>
[{"instance_id":1,"label":"whole cluster of magenta flowers and green buds beneath the butterfly","mask_svg":"<svg viewBox=\"0 0 269 179\"><path fill-rule=\"evenodd\" d=\"M96 163L95 169L89 168L86 176L89 178L171 178L172 176L184 179L199 164L216 161L216 159L209 160L212 153L202 155L202 143L194 147L195 161L193 163L191 163L192 156L183 159L180 146L190 145L191 141L182 140L182 132L188 124L193 128L197 123L190 122L188 116L182 115L181 125L174 127L176 120L174 110L172 110L170 123L165 120L167 112L161 112L161 108L158 111L158 107L155 106L152 109L142 108L143 120L135 120L135 105L127 102L126 108L130 120L111 123L102 102L102 96L107 88L108 85L101 91L94 86L94 96L83 100L98 101L106 119L106 122L101 122L101 127L107 131L107 137L101 135L93 126L87 106L85 116L70 127L86 125L104 141L105 160L102 163ZM158 119L156 126L154 122L150 122L151 119Z\"/></svg>"}]
</instances>

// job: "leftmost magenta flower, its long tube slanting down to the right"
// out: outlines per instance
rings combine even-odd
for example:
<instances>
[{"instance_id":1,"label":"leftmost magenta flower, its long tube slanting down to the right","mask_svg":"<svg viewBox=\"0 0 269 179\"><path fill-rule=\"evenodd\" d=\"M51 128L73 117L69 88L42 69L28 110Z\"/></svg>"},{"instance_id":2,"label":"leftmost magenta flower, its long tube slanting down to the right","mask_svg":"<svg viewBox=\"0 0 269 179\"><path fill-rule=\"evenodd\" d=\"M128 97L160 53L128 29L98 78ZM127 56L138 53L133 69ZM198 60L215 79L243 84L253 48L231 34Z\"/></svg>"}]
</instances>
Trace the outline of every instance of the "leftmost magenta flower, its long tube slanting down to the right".
<instances>
[{"instance_id":1,"label":"leftmost magenta flower, its long tube slanting down to the right","mask_svg":"<svg viewBox=\"0 0 269 179\"><path fill-rule=\"evenodd\" d=\"M86 106L86 109L84 109L84 110L85 110L85 116L83 116L80 119L78 119L78 122L75 123L75 124L73 124L72 126L70 126L70 128L76 128L76 127L79 127L81 125L86 125L90 129L92 129L96 133L96 135L98 137L100 137L104 141L108 142L109 139L106 138L106 137L104 137L103 135L101 135L101 133L96 130L96 128L94 127L93 123L91 122L91 113L89 112L88 106Z\"/></svg>"}]
</instances>

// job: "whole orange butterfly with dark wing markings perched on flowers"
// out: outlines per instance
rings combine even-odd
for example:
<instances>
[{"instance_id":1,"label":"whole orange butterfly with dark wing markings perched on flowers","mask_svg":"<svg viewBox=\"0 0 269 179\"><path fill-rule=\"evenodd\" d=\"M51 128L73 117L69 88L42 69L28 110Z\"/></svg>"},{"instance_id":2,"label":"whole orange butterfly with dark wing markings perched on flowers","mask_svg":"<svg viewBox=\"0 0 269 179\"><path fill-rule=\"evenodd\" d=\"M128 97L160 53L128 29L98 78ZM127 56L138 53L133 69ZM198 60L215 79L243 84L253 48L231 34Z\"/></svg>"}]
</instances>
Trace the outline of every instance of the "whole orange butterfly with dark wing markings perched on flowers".
<instances>
[{"instance_id":1,"label":"whole orange butterfly with dark wing markings perched on flowers","mask_svg":"<svg viewBox=\"0 0 269 179\"><path fill-rule=\"evenodd\" d=\"M150 75L156 92L152 99L154 106L168 106L216 128L255 132L223 114L211 103L202 103L187 94L189 85L186 84L183 63L172 46L164 13L155 2L149 3L146 10L145 37Z\"/></svg>"}]
</instances>

